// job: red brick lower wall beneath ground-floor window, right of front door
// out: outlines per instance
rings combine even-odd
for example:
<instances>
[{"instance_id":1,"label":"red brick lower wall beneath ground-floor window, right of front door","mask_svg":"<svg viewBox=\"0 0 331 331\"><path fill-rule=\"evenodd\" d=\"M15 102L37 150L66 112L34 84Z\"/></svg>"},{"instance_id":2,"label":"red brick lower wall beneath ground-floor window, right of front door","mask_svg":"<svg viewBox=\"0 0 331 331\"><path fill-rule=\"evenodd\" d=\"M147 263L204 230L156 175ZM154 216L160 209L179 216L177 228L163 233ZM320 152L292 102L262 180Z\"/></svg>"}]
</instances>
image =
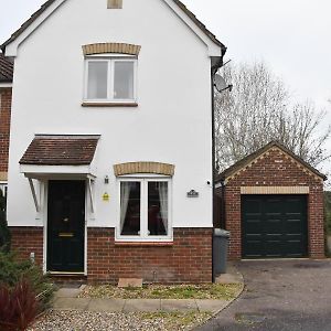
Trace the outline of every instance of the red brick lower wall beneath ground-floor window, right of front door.
<instances>
[{"instance_id":1,"label":"red brick lower wall beneath ground-floor window, right of front door","mask_svg":"<svg viewBox=\"0 0 331 331\"><path fill-rule=\"evenodd\" d=\"M114 228L88 228L88 281L211 282L212 228L174 228L172 245L118 245Z\"/></svg>"}]
</instances>

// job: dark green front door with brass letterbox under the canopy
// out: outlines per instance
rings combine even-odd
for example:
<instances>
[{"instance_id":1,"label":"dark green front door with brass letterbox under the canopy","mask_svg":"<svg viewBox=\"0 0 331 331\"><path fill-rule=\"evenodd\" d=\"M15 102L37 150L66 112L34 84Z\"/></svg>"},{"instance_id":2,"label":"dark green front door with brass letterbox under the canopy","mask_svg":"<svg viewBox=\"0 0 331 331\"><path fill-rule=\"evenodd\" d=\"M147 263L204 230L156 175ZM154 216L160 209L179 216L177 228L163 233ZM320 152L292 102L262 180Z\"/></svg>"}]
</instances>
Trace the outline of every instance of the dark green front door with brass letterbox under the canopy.
<instances>
[{"instance_id":1,"label":"dark green front door with brass letterbox under the canopy","mask_svg":"<svg viewBox=\"0 0 331 331\"><path fill-rule=\"evenodd\" d=\"M47 271L83 273L85 182L49 182Z\"/></svg>"}]
</instances>

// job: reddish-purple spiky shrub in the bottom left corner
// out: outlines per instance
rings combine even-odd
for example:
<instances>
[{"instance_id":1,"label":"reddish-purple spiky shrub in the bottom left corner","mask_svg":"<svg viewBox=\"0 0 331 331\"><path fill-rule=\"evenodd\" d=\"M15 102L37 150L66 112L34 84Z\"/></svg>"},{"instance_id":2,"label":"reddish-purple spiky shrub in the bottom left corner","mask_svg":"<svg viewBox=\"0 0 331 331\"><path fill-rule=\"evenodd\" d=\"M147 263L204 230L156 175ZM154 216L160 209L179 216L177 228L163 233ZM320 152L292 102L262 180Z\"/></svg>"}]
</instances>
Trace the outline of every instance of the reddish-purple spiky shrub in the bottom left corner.
<instances>
[{"instance_id":1,"label":"reddish-purple spiky shrub in the bottom left corner","mask_svg":"<svg viewBox=\"0 0 331 331\"><path fill-rule=\"evenodd\" d=\"M38 311L38 298L26 279L20 280L12 289L0 285L0 330L26 330Z\"/></svg>"}]
</instances>

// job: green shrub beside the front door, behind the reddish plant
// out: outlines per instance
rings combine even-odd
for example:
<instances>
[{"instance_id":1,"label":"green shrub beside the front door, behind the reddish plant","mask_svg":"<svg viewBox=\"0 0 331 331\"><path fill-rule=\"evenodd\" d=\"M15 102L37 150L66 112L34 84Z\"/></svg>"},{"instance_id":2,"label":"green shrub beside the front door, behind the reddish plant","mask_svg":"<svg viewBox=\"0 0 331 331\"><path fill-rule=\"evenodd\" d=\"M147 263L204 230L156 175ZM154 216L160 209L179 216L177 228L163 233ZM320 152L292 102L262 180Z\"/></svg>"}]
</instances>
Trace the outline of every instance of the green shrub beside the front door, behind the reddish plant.
<instances>
[{"instance_id":1,"label":"green shrub beside the front door, behind the reddish plant","mask_svg":"<svg viewBox=\"0 0 331 331\"><path fill-rule=\"evenodd\" d=\"M54 288L40 267L30 260L18 260L15 254L0 252L0 282L9 289L14 288L22 279L25 279L36 298L40 312L50 307Z\"/></svg>"}]
</instances>

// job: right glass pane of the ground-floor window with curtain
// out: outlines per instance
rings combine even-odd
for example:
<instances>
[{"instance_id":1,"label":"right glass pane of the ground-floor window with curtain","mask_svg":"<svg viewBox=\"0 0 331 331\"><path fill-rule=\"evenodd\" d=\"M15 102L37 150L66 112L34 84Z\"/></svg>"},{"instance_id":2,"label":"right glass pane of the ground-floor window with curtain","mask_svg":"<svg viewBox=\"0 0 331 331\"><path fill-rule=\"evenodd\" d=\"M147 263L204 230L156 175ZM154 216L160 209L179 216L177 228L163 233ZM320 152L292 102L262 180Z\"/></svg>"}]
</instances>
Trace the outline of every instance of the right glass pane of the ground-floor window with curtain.
<instances>
[{"instance_id":1,"label":"right glass pane of the ground-floor window with curtain","mask_svg":"<svg viewBox=\"0 0 331 331\"><path fill-rule=\"evenodd\" d=\"M168 182L148 183L148 231L150 236L168 235Z\"/></svg>"}]
</instances>

